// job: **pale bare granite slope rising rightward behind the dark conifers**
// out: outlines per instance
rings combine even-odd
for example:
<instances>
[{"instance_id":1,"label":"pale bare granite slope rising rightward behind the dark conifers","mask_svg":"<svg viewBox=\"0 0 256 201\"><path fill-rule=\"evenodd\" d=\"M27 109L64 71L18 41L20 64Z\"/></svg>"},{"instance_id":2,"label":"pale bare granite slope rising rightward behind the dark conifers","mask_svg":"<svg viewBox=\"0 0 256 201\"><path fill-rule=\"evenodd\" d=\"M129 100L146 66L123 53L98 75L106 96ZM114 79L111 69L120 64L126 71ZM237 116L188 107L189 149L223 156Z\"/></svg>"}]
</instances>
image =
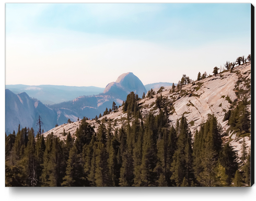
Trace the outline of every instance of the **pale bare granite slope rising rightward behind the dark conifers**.
<instances>
[{"instance_id":1,"label":"pale bare granite slope rising rightward behind the dark conifers","mask_svg":"<svg viewBox=\"0 0 256 201\"><path fill-rule=\"evenodd\" d=\"M184 115L189 123L189 128L192 134L199 128L200 124L207 119L208 114L214 114L218 122L222 125L223 132L227 132L229 125L227 121L223 121L225 111L232 107L232 103L239 101L239 95L236 94L237 83L239 82L239 89L247 90L250 88L251 79L251 64L237 66L232 73L229 71L218 74L216 77L206 78L204 80L196 81L195 85L187 84L182 87L179 93L170 93L171 86L165 87L163 92L157 93L159 89L155 89L156 95L153 98L144 98L139 101L141 105L142 115L145 117L151 111L155 115L158 114L159 109L155 106L156 98L160 94L166 97L170 102L169 107L172 109L169 113L169 122L176 125L177 119ZM250 96L249 96L250 99ZM249 108L250 110L250 108ZM111 119L114 128L121 127L126 118L125 113L122 112L122 107L118 111L111 112L109 115L101 117ZM95 127L97 131L98 123L95 120L88 120L88 122ZM62 130L69 129L72 135L75 135L75 130L79 123L62 125ZM72 128L72 129L71 129ZM55 135L61 136L62 130L57 131L57 128L45 133L48 135L53 132ZM223 137L223 141L229 141L231 146L234 147L238 156L241 156L241 137L236 136L232 132ZM64 137L65 138L65 137ZM250 137L245 137L247 147L251 145Z\"/></svg>"}]
</instances>

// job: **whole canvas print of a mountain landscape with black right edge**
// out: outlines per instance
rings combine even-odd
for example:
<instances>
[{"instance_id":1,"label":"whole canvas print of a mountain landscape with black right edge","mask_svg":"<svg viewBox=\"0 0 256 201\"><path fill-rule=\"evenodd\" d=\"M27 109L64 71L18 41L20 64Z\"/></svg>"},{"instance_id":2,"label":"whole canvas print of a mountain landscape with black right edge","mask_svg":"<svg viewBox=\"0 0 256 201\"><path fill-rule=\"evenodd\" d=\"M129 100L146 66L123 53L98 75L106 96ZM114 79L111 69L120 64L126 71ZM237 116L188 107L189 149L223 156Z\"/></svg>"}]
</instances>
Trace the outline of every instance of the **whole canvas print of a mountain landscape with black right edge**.
<instances>
[{"instance_id":1,"label":"whole canvas print of a mountain landscape with black right edge","mask_svg":"<svg viewBox=\"0 0 256 201\"><path fill-rule=\"evenodd\" d=\"M254 183L251 4L5 15L5 186Z\"/></svg>"}]
</instances>

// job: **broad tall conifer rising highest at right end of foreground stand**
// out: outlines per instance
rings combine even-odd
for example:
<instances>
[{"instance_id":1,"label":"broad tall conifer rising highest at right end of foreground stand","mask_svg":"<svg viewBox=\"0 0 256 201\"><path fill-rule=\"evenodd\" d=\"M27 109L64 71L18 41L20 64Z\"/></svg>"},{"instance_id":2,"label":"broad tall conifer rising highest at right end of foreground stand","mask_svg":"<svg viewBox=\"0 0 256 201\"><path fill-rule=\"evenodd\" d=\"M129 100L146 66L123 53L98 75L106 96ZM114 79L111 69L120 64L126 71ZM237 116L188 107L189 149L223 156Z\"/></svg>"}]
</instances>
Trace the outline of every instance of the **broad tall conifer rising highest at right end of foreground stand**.
<instances>
[{"instance_id":1,"label":"broad tall conifer rising highest at right end of foreground stand","mask_svg":"<svg viewBox=\"0 0 256 201\"><path fill-rule=\"evenodd\" d=\"M222 155L222 128L217 123L214 115L208 115L205 123L201 124L200 130L195 132L194 146L193 146L193 167L194 175L198 185L202 186L216 186L216 169L218 158ZM220 154L219 154L220 153ZM236 158L235 158L236 159ZM230 160L234 161L233 158ZM226 168L220 162L220 164ZM219 169L220 174L223 169ZM218 179L219 183L222 183Z\"/></svg>"}]
</instances>

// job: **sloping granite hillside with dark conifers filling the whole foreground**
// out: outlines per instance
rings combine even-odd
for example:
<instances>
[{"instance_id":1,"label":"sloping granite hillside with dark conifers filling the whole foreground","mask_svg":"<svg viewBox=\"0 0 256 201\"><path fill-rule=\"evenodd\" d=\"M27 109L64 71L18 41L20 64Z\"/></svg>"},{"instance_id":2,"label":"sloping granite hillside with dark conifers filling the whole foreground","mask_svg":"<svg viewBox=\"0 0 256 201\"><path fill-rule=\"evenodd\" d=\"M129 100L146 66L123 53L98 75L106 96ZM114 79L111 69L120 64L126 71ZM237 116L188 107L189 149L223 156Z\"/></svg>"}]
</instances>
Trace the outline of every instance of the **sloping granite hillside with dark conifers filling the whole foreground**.
<instances>
[{"instance_id":1,"label":"sloping granite hillside with dark conifers filling the whole foreground","mask_svg":"<svg viewBox=\"0 0 256 201\"><path fill-rule=\"evenodd\" d=\"M250 186L250 60L225 67L6 136L6 186Z\"/></svg>"}]
</instances>

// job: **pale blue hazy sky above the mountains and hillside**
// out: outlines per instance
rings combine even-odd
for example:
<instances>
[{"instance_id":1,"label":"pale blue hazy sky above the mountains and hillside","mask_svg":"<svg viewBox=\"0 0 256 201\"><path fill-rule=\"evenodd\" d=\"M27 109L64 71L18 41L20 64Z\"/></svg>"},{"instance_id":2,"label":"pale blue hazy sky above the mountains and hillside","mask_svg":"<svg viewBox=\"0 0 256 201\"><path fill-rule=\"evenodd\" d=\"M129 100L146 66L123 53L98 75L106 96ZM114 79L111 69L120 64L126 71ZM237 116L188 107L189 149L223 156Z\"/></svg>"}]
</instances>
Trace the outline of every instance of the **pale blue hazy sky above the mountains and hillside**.
<instances>
[{"instance_id":1,"label":"pale blue hazy sky above the mountains and hillside","mask_svg":"<svg viewBox=\"0 0 256 201\"><path fill-rule=\"evenodd\" d=\"M6 4L6 84L177 83L250 54L250 4Z\"/></svg>"}]
</instances>

